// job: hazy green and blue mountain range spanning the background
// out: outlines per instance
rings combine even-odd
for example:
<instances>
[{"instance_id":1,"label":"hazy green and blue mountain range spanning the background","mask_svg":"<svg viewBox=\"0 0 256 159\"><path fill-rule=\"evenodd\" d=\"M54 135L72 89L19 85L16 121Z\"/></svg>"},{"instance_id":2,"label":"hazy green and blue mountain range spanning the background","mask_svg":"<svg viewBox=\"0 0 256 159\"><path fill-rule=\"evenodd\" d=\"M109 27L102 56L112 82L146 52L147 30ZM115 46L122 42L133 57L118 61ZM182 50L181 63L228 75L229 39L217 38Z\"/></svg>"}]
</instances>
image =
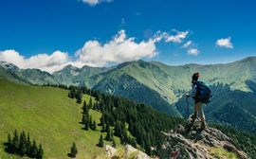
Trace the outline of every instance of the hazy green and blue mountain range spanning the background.
<instances>
[{"instance_id":1,"label":"hazy green and blue mountain range spanning the background","mask_svg":"<svg viewBox=\"0 0 256 159\"><path fill-rule=\"evenodd\" d=\"M20 69L0 62L0 78L23 84L83 85L127 97L168 115L186 115L184 94L191 89L191 76L200 72L212 91L205 107L208 120L225 122L256 132L256 57L225 64L189 63L170 66L161 62L123 62L113 67L77 68L67 65L49 74L39 69ZM190 99L190 112L192 100Z\"/></svg>"}]
</instances>

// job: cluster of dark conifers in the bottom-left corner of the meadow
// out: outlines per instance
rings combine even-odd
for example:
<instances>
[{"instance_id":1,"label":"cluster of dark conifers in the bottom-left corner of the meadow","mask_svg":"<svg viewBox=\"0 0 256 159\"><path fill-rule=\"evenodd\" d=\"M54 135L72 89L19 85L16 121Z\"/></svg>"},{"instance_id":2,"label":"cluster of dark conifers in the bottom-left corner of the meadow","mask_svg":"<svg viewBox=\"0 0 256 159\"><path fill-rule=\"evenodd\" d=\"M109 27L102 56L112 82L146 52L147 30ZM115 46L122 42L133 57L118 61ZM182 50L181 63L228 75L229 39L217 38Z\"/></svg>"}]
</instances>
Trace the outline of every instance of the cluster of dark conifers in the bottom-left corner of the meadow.
<instances>
[{"instance_id":1,"label":"cluster of dark conifers in the bottom-left corner of the meadow","mask_svg":"<svg viewBox=\"0 0 256 159\"><path fill-rule=\"evenodd\" d=\"M30 141L29 132L20 132L15 130L13 135L8 135L8 142L5 143L6 151L11 154L17 154L19 156L27 156L30 158L42 159L44 156L44 150L41 144L36 144L35 139Z\"/></svg>"}]
</instances>

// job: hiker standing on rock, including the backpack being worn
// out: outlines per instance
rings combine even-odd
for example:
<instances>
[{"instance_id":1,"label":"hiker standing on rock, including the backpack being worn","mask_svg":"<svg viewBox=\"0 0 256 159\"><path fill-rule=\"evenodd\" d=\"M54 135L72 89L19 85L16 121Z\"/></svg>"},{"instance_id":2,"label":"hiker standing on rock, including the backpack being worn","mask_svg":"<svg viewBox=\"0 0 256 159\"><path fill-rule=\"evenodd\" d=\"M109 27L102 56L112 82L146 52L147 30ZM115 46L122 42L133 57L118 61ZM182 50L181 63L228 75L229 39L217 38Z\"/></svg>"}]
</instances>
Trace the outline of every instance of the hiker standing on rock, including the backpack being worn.
<instances>
[{"instance_id":1,"label":"hiker standing on rock, including the backpack being worn","mask_svg":"<svg viewBox=\"0 0 256 159\"><path fill-rule=\"evenodd\" d=\"M204 130L206 128L206 119L203 111L204 103L210 101L210 88L203 82L199 81L199 73L196 72L192 75L192 93L186 94L187 97L192 97L194 100L194 109L191 116L192 121L194 122L196 116L198 115L201 120L200 129Z\"/></svg>"}]
</instances>

